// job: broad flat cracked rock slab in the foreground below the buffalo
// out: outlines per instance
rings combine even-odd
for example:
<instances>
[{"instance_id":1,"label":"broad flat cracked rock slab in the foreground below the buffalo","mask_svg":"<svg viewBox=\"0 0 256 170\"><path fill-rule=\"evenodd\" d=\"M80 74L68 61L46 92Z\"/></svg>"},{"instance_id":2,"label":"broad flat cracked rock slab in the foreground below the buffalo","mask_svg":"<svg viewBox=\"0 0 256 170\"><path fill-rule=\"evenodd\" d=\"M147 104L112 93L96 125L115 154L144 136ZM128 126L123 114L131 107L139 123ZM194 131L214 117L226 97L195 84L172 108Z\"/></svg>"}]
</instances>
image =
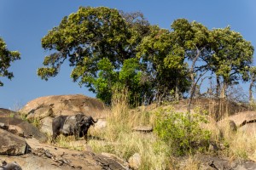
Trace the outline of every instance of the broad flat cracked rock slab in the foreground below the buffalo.
<instances>
[{"instance_id":1,"label":"broad flat cracked rock slab in the foreground below the buffalo","mask_svg":"<svg viewBox=\"0 0 256 170\"><path fill-rule=\"evenodd\" d=\"M85 141L84 141L85 142ZM31 152L23 156L1 156L0 160L16 161L22 169L54 170L125 170L119 162L90 151L68 150L54 145L39 143L37 139L26 139Z\"/></svg>"}]
</instances>

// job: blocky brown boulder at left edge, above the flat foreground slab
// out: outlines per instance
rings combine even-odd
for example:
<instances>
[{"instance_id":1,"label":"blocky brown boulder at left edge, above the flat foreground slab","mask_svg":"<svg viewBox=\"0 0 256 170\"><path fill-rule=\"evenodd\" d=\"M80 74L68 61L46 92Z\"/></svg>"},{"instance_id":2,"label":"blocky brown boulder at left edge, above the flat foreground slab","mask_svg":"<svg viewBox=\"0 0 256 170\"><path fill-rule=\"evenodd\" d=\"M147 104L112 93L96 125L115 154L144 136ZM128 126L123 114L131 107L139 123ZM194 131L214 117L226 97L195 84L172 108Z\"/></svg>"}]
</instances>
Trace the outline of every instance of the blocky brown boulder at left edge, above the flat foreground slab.
<instances>
[{"instance_id":1,"label":"blocky brown boulder at left edge, above the flat foreground slab","mask_svg":"<svg viewBox=\"0 0 256 170\"><path fill-rule=\"evenodd\" d=\"M0 128L0 154L22 155L26 154L27 148L25 139Z\"/></svg>"}]
</instances>

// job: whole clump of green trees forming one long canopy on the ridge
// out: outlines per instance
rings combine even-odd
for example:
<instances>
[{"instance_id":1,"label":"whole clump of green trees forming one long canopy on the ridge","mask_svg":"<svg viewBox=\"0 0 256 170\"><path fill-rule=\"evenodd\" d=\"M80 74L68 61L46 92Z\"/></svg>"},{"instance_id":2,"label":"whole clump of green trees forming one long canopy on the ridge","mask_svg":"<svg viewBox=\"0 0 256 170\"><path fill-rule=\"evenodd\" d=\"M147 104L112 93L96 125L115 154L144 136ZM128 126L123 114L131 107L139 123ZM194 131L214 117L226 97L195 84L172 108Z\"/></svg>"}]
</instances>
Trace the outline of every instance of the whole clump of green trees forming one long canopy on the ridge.
<instances>
[{"instance_id":1,"label":"whole clump of green trees forming one long canopy on the ridge","mask_svg":"<svg viewBox=\"0 0 256 170\"><path fill-rule=\"evenodd\" d=\"M251 43L230 27L211 31L178 19L166 30L150 26L141 13L105 7L80 7L42 38L42 46L51 54L39 77L55 77L68 60L73 81L107 104L116 87L128 89L131 105L173 99L173 94L179 99L189 90L192 99L207 72L225 90L248 80L253 59Z\"/></svg>"}]
</instances>

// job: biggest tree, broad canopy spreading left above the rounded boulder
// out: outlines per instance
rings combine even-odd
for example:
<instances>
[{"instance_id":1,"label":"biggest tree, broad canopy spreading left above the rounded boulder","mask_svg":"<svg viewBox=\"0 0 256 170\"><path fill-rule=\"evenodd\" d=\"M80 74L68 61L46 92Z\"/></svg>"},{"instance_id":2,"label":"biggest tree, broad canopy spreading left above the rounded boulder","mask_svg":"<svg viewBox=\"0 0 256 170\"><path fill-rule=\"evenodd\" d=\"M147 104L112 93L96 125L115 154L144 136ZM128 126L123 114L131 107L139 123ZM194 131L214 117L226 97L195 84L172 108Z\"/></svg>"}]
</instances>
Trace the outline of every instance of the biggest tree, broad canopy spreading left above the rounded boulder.
<instances>
[{"instance_id":1,"label":"biggest tree, broad canopy spreading left above the rounded boulder","mask_svg":"<svg viewBox=\"0 0 256 170\"><path fill-rule=\"evenodd\" d=\"M136 56L137 43L142 39L142 35L138 36L139 26L146 34L148 23L140 14L122 16L113 8L80 7L42 38L42 47L53 53L44 58L38 76L44 80L55 77L68 59L73 82L79 81L80 86L110 104L113 86L123 77L125 65ZM134 69L138 70L137 66ZM131 82L138 81L138 77L134 78L123 82L124 86L131 88Z\"/></svg>"}]
</instances>

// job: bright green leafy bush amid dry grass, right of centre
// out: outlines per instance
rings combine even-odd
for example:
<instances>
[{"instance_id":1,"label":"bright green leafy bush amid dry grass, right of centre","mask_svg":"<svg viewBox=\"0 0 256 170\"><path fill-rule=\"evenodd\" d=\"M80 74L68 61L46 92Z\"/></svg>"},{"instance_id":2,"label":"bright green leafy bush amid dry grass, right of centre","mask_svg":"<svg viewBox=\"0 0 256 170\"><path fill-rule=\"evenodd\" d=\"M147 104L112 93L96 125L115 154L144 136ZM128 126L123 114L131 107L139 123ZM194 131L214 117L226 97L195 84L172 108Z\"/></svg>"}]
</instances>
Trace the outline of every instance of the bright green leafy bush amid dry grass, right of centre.
<instances>
[{"instance_id":1,"label":"bright green leafy bush amid dry grass, right of centre","mask_svg":"<svg viewBox=\"0 0 256 170\"><path fill-rule=\"evenodd\" d=\"M201 123L207 123L206 116L160 110L156 117L154 133L170 147L173 155L193 154L209 144L210 132L201 128Z\"/></svg>"}]
</instances>

